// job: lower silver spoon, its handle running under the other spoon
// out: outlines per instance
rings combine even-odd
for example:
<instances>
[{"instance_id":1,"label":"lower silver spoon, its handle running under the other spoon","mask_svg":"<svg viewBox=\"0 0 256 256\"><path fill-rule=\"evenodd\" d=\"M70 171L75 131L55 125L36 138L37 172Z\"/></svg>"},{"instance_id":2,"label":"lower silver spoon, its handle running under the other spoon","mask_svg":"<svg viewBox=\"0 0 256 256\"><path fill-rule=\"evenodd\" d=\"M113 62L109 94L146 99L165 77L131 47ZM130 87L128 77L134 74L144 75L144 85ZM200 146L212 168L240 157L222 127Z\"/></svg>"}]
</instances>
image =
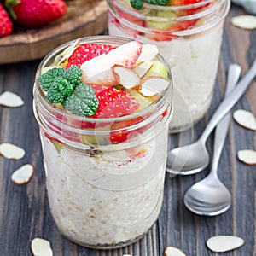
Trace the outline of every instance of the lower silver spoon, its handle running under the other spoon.
<instances>
[{"instance_id":1,"label":"lower silver spoon, its handle running under the other spoon","mask_svg":"<svg viewBox=\"0 0 256 256\"><path fill-rule=\"evenodd\" d=\"M227 89L225 95L235 87L236 81L230 80L230 72L233 67L229 68ZM214 151L212 159L212 169L207 177L200 182L195 183L184 195L183 201L185 206L191 212L200 215L214 216L225 212L231 204L231 195L228 189L218 179L218 161L222 152L225 137L228 132L230 123L230 113L227 113L218 123L214 137Z\"/></svg>"}]
</instances>

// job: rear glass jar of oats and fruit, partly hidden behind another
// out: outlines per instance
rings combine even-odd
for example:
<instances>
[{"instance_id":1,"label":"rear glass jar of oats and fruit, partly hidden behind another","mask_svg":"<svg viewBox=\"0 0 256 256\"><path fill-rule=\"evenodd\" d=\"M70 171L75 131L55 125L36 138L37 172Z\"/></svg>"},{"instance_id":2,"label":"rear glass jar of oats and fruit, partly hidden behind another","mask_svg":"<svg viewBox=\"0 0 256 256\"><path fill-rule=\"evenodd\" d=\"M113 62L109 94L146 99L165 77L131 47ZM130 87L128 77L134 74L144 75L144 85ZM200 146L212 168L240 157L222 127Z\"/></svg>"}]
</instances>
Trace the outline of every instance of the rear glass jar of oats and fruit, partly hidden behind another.
<instances>
[{"instance_id":1,"label":"rear glass jar of oats and fruit, partly hidden behind another","mask_svg":"<svg viewBox=\"0 0 256 256\"><path fill-rule=\"evenodd\" d=\"M187 130L207 113L218 70L224 18L229 0L183 6L108 0L110 35L156 44L172 70L174 114L170 131Z\"/></svg>"}]
</instances>

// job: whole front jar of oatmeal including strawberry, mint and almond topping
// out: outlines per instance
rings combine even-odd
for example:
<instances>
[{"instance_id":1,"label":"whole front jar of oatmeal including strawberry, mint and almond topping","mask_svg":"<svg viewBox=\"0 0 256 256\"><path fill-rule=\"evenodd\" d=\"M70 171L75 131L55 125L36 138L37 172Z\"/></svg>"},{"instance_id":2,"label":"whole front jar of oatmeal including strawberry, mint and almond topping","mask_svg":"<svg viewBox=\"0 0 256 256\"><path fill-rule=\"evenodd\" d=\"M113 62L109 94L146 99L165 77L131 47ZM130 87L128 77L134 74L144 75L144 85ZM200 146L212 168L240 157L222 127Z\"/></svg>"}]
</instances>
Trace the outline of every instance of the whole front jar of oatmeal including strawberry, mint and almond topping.
<instances>
[{"instance_id":1,"label":"whole front jar of oatmeal including strawberry, mint and almond topping","mask_svg":"<svg viewBox=\"0 0 256 256\"><path fill-rule=\"evenodd\" d=\"M44 58L34 113L49 207L64 236L86 247L122 247L154 224L171 97L170 71L153 44L82 38Z\"/></svg>"}]
</instances>

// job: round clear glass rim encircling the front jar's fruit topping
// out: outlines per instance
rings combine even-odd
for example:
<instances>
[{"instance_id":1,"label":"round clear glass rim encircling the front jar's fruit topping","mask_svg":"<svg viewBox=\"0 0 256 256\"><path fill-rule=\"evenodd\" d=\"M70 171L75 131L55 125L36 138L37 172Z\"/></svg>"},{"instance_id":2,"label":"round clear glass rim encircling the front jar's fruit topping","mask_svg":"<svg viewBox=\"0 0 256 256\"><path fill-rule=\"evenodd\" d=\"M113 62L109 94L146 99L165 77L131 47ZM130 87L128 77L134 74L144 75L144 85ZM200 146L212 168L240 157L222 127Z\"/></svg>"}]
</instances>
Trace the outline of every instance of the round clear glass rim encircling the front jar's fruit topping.
<instances>
[{"instance_id":1,"label":"round clear glass rim encircling the front jar's fruit topping","mask_svg":"<svg viewBox=\"0 0 256 256\"><path fill-rule=\"evenodd\" d=\"M84 37L84 38L80 38L81 42L80 44L85 44L85 43L98 43L98 44L115 44L115 45L121 45L121 44L125 44L128 43L130 41L132 41L129 38L120 38L120 37L113 37L113 36L108 36L108 35L100 35L100 36L91 36L91 37ZM157 58L162 61L168 71L168 79L170 81L169 86L167 87L167 89L165 90L164 94L159 97L155 102L151 103L150 105L148 105L148 107L143 108L139 111L137 111L136 113L131 113L125 116L121 116L118 118L86 118L86 117L82 117L73 113L68 113L67 111L63 111L60 108L55 108L55 106L53 106L52 104L49 103L49 101L45 98L44 96L44 92L38 82L38 77L41 74L42 68L45 67L47 64L50 63L50 61L53 61L55 55L57 55L58 53L61 53L64 49L67 49L68 46L72 45L76 40L71 40L65 44L61 44L60 46L58 46L57 48L51 50L49 52L48 55L46 55L44 57L44 59L39 63L38 65L38 69L36 72L36 77L35 77L35 85L34 85L34 96L39 96L39 100L41 103L44 104L44 108L47 108L47 110L49 111L49 113L56 113L56 114L60 114L60 115L65 115L67 116L68 119L73 119L73 120L77 120L77 121L81 121L81 120L86 120L86 122L90 122L90 123L109 123L109 122L113 122L113 121L125 121L125 120L129 120L129 119L133 119L136 118L138 116L144 115L146 113L148 113L148 111L152 108L161 108L161 106L164 103L168 103L171 104L170 99L172 98L172 94L173 94L173 82L172 82L172 73L170 70L169 65L166 63L165 59L158 54ZM37 91L35 91L37 90Z\"/></svg>"}]
</instances>

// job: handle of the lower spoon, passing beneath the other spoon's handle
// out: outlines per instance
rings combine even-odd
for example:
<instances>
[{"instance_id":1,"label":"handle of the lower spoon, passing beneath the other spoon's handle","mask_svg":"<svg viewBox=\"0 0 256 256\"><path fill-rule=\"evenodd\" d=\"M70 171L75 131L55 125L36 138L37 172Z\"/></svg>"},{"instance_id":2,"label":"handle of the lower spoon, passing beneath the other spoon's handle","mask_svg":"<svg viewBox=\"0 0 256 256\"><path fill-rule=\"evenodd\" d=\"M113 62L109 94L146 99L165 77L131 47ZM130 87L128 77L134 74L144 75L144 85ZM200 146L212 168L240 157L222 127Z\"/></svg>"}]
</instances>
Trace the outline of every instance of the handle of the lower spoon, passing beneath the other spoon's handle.
<instances>
[{"instance_id":1,"label":"handle of the lower spoon, passing beneath the other spoon's handle","mask_svg":"<svg viewBox=\"0 0 256 256\"><path fill-rule=\"evenodd\" d=\"M236 64L231 64L228 71L227 87L225 91L225 97L235 88L236 83L241 73L241 67ZM224 147L224 141L228 133L230 125L230 113L227 113L223 119L221 119L215 129L214 135L214 150L212 158L212 170L211 175L217 176L218 161Z\"/></svg>"}]
</instances>

